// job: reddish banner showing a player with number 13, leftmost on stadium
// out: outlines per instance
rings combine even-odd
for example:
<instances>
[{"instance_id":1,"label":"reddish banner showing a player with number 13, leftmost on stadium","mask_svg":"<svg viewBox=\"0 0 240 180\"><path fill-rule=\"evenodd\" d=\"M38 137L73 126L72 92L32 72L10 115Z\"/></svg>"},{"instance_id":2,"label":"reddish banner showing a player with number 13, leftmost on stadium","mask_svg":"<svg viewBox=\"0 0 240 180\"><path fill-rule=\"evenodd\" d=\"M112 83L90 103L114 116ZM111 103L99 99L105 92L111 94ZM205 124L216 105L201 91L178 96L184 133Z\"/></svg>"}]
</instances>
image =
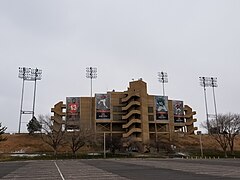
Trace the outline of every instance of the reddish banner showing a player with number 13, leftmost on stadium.
<instances>
[{"instance_id":1,"label":"reddish banner showing a player with number 13, leftmost on stadium","mask_svg":"<svg viewBox=\"0 0 240 180\"><path fill-rule=\"evenodd\" d=\"M80 98L67 97L66 102L67 102L66 120L67 121L80 120Z\"/></svg>"}]
</instances>

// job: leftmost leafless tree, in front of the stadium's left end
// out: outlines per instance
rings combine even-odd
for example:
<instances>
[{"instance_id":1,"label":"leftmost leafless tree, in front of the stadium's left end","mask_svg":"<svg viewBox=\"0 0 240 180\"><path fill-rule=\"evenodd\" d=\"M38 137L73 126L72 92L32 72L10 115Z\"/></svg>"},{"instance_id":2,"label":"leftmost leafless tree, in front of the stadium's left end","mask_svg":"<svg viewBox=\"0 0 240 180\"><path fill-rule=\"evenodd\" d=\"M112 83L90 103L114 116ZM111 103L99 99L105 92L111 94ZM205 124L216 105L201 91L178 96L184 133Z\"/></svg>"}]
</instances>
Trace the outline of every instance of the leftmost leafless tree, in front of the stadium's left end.
<instances>
[{"instance_id":1,"label":"leftmost leafless tree, in front of the stadium's left end","mask_svg":"<svg viewBox=\"0 0 240 180\"><path fill-rule=\"evenodd\" d=\"M48 115L40 115L39 121L42 124L42 140L51 146L56 156L59 147L64 144L65 131L62 129L62 124L54 125Z\"/></svg>"}]
</instances>

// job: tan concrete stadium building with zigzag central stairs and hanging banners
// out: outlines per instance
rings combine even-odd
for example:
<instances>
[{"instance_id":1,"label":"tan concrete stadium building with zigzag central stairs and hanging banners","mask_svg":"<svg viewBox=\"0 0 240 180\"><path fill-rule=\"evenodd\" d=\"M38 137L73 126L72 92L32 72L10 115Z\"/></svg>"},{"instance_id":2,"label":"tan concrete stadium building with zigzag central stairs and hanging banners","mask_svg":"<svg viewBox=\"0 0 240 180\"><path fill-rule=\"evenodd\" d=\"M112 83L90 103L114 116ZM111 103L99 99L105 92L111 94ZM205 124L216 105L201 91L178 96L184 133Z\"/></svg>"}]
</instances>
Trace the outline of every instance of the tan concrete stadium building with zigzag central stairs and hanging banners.
<instances>
[{"instance_id":1,"label":"tan concrete stadium building with zigzag central stairs and hanging banners","mask_svg":"<svg viewBox=\"0 0 240 180\"><path fill-rule=\"evenodd\" d=\"M139 79L129 83L126 91L95 94L94 97L67 97L51 109L56 128L89 128L96 135L108 133L148 143L158 135L170 139L178 133L194 134L196 112L183 101L167 96L149 95L147 84Z\"/></svg>"}]
</instances>

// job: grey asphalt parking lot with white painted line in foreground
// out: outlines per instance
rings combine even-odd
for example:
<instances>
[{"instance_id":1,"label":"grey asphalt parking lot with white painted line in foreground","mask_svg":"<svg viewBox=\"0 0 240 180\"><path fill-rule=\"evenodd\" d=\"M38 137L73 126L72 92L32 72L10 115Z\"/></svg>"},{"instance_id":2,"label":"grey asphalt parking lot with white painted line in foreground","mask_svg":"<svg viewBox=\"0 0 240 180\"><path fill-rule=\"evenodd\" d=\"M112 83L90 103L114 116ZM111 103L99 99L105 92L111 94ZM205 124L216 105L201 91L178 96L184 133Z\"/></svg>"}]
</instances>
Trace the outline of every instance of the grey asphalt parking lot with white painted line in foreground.
<instances>
[{"instance_id":1,"label":"grey asphalt parking lot with white painted line in foreground","mask_svg":"<svg viewBox=\"0 0 240 180\"><path fill-rule=\"evenodd\" d=\"M0 179L31 180L231 180L239 159L95 159L1 162Z\"/></svg>"}]
</instances>

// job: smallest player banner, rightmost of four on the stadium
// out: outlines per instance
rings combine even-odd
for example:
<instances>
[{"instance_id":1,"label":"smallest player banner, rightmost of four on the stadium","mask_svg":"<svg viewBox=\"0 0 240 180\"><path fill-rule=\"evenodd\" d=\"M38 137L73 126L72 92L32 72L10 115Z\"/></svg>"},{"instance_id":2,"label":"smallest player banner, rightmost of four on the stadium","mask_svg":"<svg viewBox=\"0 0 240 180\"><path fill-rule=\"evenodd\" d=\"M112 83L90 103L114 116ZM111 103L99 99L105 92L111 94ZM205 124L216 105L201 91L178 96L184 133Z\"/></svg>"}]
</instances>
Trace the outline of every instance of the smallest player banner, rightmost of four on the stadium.
<instances>
[{"instance_id":1,"label":"smallest player banner, rightmost of four on the stadium","mask_svg":"<svg viewBox=\"0 0 240 180\"><path fill-rule=\"evenodd\" d=\"M184 123L183 101L173 101L174 122Z\"/></svg>"}]
</instances>

